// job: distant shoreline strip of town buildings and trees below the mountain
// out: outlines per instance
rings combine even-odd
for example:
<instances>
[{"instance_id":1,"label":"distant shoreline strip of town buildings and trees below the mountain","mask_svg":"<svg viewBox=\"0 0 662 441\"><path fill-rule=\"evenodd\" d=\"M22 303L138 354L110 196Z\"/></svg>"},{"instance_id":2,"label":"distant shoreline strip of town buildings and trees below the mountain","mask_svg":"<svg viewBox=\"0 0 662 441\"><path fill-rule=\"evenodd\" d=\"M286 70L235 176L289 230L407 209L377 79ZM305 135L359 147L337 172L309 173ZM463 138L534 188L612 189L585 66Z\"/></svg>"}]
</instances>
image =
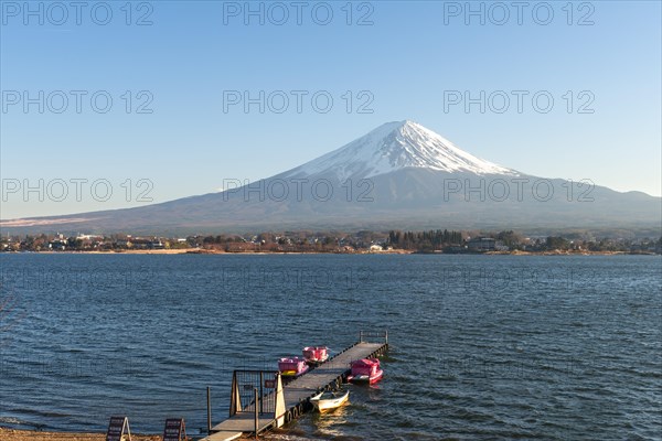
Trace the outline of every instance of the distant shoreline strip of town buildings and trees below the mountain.
<instances>
[{"instance_id":1,"label":"distant shoreline strip of town buildings and trees below the mountain","mask_svg":"<svg viewBox=\"0 0 662 441\"><path fill-rule=\"evenodd\" d=\"M662 254L660 238L598 238L587 233L527 237L516 232L285 232L186 237L126 234L26 235L0 239L0 252L421 252Z\"/></svg>"}]
</instances>

